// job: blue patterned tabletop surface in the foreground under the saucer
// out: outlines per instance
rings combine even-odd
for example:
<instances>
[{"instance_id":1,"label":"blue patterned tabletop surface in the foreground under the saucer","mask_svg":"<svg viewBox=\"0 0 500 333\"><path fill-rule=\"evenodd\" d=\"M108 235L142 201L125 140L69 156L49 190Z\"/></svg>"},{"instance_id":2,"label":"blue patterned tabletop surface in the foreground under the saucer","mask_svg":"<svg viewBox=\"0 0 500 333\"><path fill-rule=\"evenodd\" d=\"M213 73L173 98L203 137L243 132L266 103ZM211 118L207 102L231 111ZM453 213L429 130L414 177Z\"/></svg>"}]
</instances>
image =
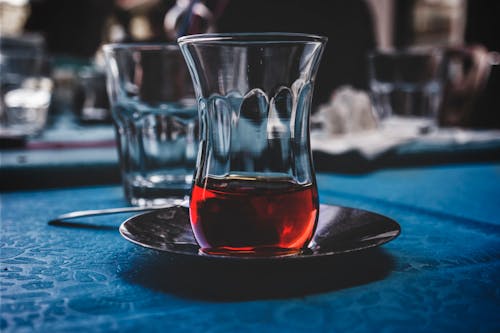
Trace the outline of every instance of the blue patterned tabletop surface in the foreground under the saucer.
<instances>
[{"instance_id":1,"label":"blue patterned tabletop surface in the foreground under the saucer","mask_svg":"<svg viewBox=\"0 0 500 333\"><path fill-rule=\"evenodd\" d=\"M305 265L305 272L297 272L300 279L291 276L293 283L288 285L284 281L277 296L252 295L245 281L240 285L226 281L236 291L220 299L217 293L210 294L215 287L207 283L207 275L227 268L182 268L182 264L175 266L177 259L127 242L117 230L126 216L84 221L95 228L47 224L49 218L72 210L124 205L120 186L4 192L0 329L500 331L499 163L387 169L350 176L319 173L317 179L322 203L389 216L400 223L402 234L375 252L368 251L367 258L373 260L360 261L353 254L340 263ZM168 270L163 265L180 268ZM186 269L194 275L185 276L183 285L179 275L183 280L181 271ZM373 274L374 270L379 274ZM345 272L352 275L345 276ZM267 273L249 270L253 277L248 281L273 282ZM228 274L228 279L231 274L238 276ZM283 278L279 272L273 274ZM189 289L186 284L195 292L182 293L182 288ZM223 287L217 286L222 294Z\"/></svg>"}]
</instances>

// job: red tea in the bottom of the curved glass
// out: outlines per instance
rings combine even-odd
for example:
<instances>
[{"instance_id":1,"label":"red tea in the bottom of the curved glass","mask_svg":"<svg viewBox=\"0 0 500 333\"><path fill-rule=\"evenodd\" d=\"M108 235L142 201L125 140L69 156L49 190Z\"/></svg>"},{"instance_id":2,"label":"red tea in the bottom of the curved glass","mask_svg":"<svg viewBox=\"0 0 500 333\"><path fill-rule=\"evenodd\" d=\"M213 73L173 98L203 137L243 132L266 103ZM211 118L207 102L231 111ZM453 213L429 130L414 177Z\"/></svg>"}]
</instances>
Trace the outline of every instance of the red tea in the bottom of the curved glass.
<instances>
[{"instance_id":1,"label":"red tea in the bottom of the curved glass","mask_svg":"<svg viewBox=\"0 0 500 333\"><path fill-rule=\"evenodd\" d=\"M206 253L297 253L313 235L317 195L284 177L205 178L192 189L191 225Z\"/></svg>"}]
</instances>

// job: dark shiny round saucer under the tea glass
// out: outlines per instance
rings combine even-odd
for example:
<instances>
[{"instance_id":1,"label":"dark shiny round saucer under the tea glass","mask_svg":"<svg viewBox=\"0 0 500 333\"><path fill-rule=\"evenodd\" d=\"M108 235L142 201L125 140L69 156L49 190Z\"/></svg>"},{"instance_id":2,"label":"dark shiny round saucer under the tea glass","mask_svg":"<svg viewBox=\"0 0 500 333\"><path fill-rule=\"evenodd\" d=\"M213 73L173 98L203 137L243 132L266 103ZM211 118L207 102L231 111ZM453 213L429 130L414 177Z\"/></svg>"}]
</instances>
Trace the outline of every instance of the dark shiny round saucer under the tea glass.
<instances>
[{"instance_id":1,"label":"dark shiny round saucer under the tea glass","mask_svg":"<svg viewBox=\"0 0 500 333\"><path fill-rule=\"evenodd\" d=\"M159 251L202 260L304 260L360 251L385 244L401 233L400 225L357 208L320 205L318 225L308 247L290 256L222 256L201 253L189 222L189 210L175 206L133 216L120 226L128 241Z\"/></svg>"}]
</instances>

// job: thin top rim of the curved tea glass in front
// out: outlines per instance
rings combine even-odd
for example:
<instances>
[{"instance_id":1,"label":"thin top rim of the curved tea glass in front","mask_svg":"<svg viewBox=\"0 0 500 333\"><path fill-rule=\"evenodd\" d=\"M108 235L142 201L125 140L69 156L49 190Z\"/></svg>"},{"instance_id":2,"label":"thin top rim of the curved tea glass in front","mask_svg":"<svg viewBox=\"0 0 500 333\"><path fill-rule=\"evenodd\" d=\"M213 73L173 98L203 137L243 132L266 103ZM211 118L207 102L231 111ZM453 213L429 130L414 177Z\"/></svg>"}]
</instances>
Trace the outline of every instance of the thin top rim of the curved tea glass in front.
<instances>
[{"instance_id":1,"label":"thin top rim of the curved tea glass in front","mask_svg":"<svg viewBox=\"0 0 500 333\"><path fill-rule=\"evenodd\" d=\"M328 37L299 33L299 32L238 32L238 33L208 33L182 36L177 39L179 45L183 44L283 44L290 42L300 43L322 43L325 44Z\"/></svg>"}]
</instances>

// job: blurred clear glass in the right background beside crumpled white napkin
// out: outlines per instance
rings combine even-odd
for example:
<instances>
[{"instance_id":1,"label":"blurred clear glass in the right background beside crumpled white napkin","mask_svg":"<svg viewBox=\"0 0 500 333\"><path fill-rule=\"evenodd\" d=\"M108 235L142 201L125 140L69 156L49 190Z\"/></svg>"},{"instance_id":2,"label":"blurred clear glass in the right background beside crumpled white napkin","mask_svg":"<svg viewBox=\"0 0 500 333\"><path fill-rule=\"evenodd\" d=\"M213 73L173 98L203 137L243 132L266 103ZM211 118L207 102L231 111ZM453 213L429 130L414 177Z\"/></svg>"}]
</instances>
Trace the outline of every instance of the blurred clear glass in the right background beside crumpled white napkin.
<instances>
[{"instance_id":1,"label":"blurred clear glass in the right background beside crumpled white napkin","mask_svg":"<svg viewBox=\"0 0 500 333\"><path fill-rule=\"evenodd\" d=\"M413 123L422 131L436 126L445 70L439 49L372 52L370 92L381 123Z\"/></svg>"}]
</instances>

